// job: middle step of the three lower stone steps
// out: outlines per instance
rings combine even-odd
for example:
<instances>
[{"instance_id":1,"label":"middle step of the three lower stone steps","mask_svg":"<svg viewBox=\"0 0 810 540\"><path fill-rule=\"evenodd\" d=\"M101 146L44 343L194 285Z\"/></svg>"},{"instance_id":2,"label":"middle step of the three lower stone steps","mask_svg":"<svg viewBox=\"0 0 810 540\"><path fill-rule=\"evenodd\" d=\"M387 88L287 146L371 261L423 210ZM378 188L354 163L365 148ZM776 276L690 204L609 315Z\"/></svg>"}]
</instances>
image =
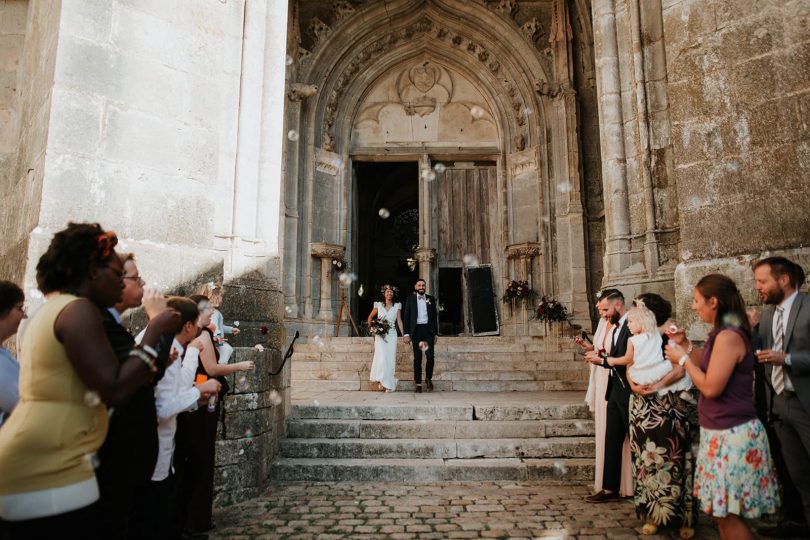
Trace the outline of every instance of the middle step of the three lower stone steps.
<instances>
[{"instance_id":1,"label":"middle step of the three lower stone steps","mask_svg":"<svg viewBox=\"0 0 810 540\"><path fill-rule=\"evenodd\" d=\"M282 439L280 451L295 458L585 458L593 456L594 439Z\"/></svg>"}]
</instances>

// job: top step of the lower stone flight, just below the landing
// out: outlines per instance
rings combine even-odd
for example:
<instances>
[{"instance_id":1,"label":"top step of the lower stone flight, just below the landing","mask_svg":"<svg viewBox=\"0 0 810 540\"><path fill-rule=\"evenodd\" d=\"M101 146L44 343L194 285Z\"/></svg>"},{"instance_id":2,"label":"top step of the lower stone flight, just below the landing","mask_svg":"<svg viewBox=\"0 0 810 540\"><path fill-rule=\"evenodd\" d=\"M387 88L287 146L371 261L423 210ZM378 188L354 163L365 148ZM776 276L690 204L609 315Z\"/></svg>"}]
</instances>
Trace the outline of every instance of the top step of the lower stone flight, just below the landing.
<instances>
[{"instance_id":1,"label":"top step of the lower stone flight, just below the landing","mask_svg":"<svg viewBox=\"0 0 810 540\"><path fill-rule=\"evenodd\" d=\"M287 421L290 439L533 439L593 436L591 420L307 420Z\"/></svg>"}]
</instances>

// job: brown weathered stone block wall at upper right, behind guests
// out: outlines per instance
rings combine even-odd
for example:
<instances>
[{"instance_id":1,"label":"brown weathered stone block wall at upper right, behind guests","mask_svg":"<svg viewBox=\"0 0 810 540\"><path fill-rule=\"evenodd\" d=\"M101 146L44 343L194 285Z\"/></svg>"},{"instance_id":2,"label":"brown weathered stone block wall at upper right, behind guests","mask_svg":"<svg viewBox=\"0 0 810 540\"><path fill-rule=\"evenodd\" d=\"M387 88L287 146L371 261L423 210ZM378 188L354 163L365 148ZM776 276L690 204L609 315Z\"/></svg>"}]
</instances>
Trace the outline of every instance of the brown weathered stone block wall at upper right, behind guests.
<instances>
[{"instance_id":1,"label":"brown weathered stone block wall at upper right, behind guests","mask_svg":"<svg viewBox=\"0 0 810 540\"><path fill-rule=\"evenodd\" d=\"M709 271L751 303L750 261L810 265L810 4L663 4L681 257L678 306Z\"/></svg>"}]
</instances>

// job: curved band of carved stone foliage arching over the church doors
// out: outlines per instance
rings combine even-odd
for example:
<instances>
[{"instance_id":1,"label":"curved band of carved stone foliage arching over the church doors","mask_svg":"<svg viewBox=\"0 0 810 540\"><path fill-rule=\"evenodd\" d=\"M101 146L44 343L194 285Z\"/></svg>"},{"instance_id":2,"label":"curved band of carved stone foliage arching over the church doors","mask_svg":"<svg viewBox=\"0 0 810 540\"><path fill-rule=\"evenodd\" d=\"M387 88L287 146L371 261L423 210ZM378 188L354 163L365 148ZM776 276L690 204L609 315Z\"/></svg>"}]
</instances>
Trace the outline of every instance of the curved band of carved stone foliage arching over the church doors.
<instances>
[{"instance_id":1,"label":"curved band of carved stone foliage arching over the church doors","mask_svg":"<svg viewBox=\"0 0 810 540\"><path fill-rule=\"evenodd\" d=\"M515 3L516 5L516 3ZM354 57L346 64L346 68L335 79L335 85L329 94L324 110L324 127L321 132L321 146L330 151L335 149L334 127L337 120L339 102L348 88L349 82L353 81L358 73L368 69L376 60L391 51L400 41L412 41L420 39L422 36L430 35L435 39L448 41L453 46L466 51L482 67L488 69L493 75L497 75L497 80L501 86L501 93L508 96L508 102L512 109L512 115L517 126L521 128L513 142L517 143L517 149L525 148L528 140L526 119L523 111L526 104L517 89L517 84L510 73L505 73L501 69L501 62L496 56L488 51L484 46L459 34L458 32L432 21L428 17L422 17L404 28L392 29L384 37L380 37L363 47L358 47ZM419 114L421 107L428 107L429 103L420 103L412 106L414 114Z\"/></svg>"}]
</instances>

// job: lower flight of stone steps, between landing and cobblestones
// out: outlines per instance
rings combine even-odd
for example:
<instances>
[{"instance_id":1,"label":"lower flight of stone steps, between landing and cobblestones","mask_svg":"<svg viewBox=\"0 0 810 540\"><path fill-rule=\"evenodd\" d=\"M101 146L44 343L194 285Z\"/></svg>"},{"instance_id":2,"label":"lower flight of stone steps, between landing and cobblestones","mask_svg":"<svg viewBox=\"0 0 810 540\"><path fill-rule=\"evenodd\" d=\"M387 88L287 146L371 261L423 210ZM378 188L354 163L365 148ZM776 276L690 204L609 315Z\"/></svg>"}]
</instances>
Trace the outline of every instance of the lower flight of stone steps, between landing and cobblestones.
<instances>
[{"instance_id":1,"label":"lower flight of stone steps, between landing and cobblestones","mask_svg":"<svg viewBox=\"0 0 810 540\"><path fill-rule=\"evenodd\" d=\"M593 478L594 427L581 392L333 395L294 394L276 480Z\"/></svg>"}]
</instances>

